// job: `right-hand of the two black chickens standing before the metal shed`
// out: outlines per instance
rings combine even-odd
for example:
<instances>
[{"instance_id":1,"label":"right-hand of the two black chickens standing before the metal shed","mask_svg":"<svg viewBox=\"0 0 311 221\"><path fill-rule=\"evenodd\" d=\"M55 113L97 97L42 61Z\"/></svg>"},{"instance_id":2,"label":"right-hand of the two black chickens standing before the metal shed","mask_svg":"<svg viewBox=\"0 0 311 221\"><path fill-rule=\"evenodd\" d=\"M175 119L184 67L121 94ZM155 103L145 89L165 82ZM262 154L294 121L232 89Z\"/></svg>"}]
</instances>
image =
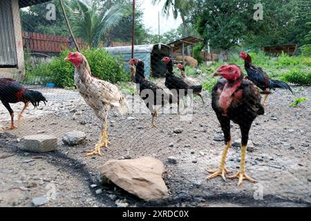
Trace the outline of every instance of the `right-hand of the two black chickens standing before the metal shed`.
<instances>
[{"instance_id":1,"label":"right-hand of the two black chickens standing before the metal shed","mask_svg":"<svg viewBox=\"0 0 311 221\"><path fill-rule=\"evenodd\" d=\"M180 77L177 77L173 73L173 61L169 57L163 57L162 61L167 64L167 73L165 75L165 86L171 90L174 97L177 97L177 109L180 113L179 102L185 95L188 94L188 90L192 90L192 93L199 93L202 91L202 86L189 86Z\"/></svg>"}]
</instances>

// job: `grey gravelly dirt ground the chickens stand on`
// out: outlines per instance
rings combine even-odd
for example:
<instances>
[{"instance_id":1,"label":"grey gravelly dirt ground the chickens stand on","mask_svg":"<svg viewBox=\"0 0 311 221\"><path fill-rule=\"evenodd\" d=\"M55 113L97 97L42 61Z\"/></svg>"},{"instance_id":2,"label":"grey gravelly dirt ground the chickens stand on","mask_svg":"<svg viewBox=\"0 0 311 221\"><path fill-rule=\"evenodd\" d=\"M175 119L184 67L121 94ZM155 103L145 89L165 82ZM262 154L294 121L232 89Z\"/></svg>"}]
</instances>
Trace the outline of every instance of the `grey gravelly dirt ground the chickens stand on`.
<instances>
[{"instance_id":1,"label":"grey gravelly dirt ground the chickens stand on","mask_svg":"<svg viewBox=\"0 0 311 221\"><path fill-rule=\"evenodd\" d=\"M153 129L146 128L151 115L144 104L142 113L138 113L141 101L135 99L129 119L115 111L110 113L111 146L104 155L84 157L99 138L99 120L76 91L37 88L48 99L47 106L39 106L39 110L28 108L17 130L0 132L0 206L33 206L32 199L48 195L50 186L55 188L56 196L44 206L116 206L116 200L124 199L129 206L311 206L311 88L293 89L295 95L276 90L267 100L265 115L254 122L246 169L258 182L245 181L243 186L237 186L238 180L205 179L205 170L217 168L224 148L220 139L223 133L208 93L205 106L195 99L191 121L164 113L156 119L158 128ZM295 97L309 100L290 107ZM127 99L133 101L131 95ZM13 104L12 108L18 113L22 106ZM8 112L1 105L1 126L8 126L8 119ZM175 128L181 128L182 133L173 133ZM62 144L62 136L68 131L84 131L86 142L74 147ZM37 133L56 135L57 151L21 151L21 138ZM241 139L235 124L232 138ZM117 186L98 181L98 168L107 160L142 156L153 156L164 163L167 202L147 203ZM177 164L169 164L169 156L176 157ZM227 157L227 168L232 173L238 170L239 159L239 148L232 146ZM92 184L97 186L92 188Z\"/></svg>"}]
</instances>

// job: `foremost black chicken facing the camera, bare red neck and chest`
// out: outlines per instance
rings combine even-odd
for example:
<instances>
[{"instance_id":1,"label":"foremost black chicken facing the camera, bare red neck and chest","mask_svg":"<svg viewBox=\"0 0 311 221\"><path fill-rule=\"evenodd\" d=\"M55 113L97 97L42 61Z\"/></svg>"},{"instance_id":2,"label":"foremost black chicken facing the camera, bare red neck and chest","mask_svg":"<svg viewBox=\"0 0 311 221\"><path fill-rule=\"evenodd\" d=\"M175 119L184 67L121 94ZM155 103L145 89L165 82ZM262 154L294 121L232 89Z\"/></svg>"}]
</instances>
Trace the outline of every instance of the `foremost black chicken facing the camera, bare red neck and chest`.
<instances>
[{"instance_id":1,"label":"foremost black chicken facing the camera, bare red neck and chest","mask_svg":"<svg viewBox=\"0 0 311 221\"><path fill-rule=\"evenodd\" d=\"M220 126L225 137L225 150L221 157L218 170L207 171L211 173L207 180L221 175L223 180L226 179L225 174L228 173L225 167L227 152L232 144L230 135L230 120L241 129L241 166L235 175L228 177L229 179L238 178L238 185L243 184L243 180L255 182L245 172L245 156L247 151L247 141L249 130L252 122L258 115L264 114L264 108L261 104L261 95L258 88L247 79L243 79L241 69L234 65L223 65L214 76L221 76L212 90L211 106L214 109Z\"/></svg>"}]
</instances>

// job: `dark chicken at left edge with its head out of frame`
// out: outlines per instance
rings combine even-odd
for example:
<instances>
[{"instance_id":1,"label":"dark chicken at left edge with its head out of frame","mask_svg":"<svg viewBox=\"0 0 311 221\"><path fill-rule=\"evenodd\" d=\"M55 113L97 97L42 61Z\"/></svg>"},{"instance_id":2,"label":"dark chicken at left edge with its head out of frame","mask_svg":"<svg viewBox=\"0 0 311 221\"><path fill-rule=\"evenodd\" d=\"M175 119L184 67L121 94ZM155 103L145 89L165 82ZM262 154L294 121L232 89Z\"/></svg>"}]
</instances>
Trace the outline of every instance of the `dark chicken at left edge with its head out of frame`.
<instances>
[{"instance_id":1,"label":"dark chicken at left edge with its head out of frame","mask_svg":"<svg viewBox=\"0 0 311 221\"><path fill-rule=\"evenodd\" d=\"M0 78L0 99L2 104L8 109L11 116L11 126L6 128L7 130L14 130L17 128L14 124L14 111L10 107L10 103L15 104L17 102L23 102L23 110L19 113L17 118L17 121L21 122L23 112L29 106L29 103L37 108L40 102L44 102L44 104L47 102L44 95L42 95L39 91L28 90L17 81L10 78Z\"/></svg>"}]
</instances>

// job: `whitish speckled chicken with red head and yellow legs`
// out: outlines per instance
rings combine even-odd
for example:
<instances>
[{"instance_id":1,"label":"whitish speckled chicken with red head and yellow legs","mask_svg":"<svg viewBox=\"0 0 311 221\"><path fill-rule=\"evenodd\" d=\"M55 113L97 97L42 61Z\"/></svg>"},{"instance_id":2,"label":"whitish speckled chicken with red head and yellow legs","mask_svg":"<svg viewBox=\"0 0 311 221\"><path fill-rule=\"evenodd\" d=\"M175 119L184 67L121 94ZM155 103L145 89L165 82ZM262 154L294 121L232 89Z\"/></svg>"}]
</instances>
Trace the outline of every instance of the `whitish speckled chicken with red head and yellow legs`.
<instances>
[{"instance_id":1,"label":"whitish speckled chicken with red head and yellow legs","mask_svg":"<svg viewBox=\"0 0 311 221\"><path fill-rule=\"evenodd\" d=\"M117 86L92 77L88 61L80 52L70 52L65 60L75 66L75 86L86 104L93 108L95 115L102 122L100 141L96 144L95 150L88 151L86 156L102 155L101 148L108 148L110 144L107 122L109 111L111 108L117 108L124 115L129 113L129 105Z\"/></svg>"}]
</instances>

